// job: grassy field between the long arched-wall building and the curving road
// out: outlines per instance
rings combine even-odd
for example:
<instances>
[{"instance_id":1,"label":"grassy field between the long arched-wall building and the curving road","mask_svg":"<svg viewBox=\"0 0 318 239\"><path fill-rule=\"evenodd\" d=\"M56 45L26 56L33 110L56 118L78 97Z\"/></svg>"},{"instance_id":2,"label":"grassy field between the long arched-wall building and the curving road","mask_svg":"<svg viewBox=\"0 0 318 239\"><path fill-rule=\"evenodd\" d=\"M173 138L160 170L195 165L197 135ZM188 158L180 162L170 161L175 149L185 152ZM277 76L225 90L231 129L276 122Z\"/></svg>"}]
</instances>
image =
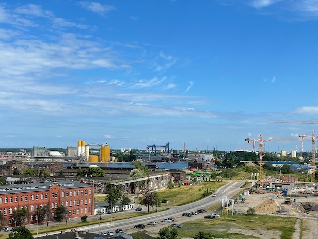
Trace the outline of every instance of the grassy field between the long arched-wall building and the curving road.
<instances>
[{"instance_id":1,"label":"grassy field between the long arched-wall building and the curving road","mask_svg":"<svg viewBox=\"0 0 318 239\"><path fill-rule=\"evenodd\" d=\"M160 201L168 200L169 206L181 206L193 201L200 200L201 194L204 193L205 189L211 189L214 193L219 187L225 185L226 182L217 181L204 181L193 185L182 185L181 187L175 187L172 189L165 189L157 192ZM161 203L165 205L165 203Z\"/></svg>"}]
</instances>

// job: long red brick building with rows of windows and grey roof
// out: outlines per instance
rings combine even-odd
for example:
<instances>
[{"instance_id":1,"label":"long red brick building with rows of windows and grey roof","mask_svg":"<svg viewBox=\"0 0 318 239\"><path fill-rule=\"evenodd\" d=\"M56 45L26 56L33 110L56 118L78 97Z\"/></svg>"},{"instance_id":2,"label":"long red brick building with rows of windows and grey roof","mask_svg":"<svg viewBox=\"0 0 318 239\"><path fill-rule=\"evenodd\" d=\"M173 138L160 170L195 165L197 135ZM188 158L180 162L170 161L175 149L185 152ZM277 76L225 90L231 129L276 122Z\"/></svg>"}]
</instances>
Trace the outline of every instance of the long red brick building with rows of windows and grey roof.
<instances>
[{"instance_id":1,"label":"long red brick building with rows of windows and grey roof","mask_svg":"<svg viewBox=\"0 0 318 239\"><path fill-rule=\"evenodd\" d=\"M46 205L51 211L50 221L58 206L68 210L69 218L93 215L94 184L81 180L0 186L0 213L7 218L8 226L15 226L12 213L22 208L29 212L25 224L37 223L37 208Z\"/></svg>"}]
</instances>

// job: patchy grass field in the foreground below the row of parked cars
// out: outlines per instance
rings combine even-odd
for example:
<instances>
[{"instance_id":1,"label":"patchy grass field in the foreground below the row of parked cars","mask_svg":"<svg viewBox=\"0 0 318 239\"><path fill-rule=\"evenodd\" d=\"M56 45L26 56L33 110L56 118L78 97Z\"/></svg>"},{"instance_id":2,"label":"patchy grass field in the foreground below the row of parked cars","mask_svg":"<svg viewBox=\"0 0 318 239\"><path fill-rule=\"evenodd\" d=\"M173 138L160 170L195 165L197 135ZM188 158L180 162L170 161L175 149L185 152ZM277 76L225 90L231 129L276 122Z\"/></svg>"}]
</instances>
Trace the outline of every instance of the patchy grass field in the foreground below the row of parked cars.
<instances>
[{"instance_id":1,"label":"patchy grass field in the foreground below the row of parked cars","mask_svg":"<svg viewBox=\"0 0 318 239\"><path fill-rule=\"evenodd\" d=\"M281 232L282 239L292 238L296 218L277 217L270 215L235 215L221 216L217 219L199 219L196 221L186 222L182 224L182 228L178 228L180 236L194 237L198 231L209 232L216 238L259 238L244 234L228 233L231 228L245 230L264 230L264 235L269 230L278 230Z\"/></svg>"}]
</instances>

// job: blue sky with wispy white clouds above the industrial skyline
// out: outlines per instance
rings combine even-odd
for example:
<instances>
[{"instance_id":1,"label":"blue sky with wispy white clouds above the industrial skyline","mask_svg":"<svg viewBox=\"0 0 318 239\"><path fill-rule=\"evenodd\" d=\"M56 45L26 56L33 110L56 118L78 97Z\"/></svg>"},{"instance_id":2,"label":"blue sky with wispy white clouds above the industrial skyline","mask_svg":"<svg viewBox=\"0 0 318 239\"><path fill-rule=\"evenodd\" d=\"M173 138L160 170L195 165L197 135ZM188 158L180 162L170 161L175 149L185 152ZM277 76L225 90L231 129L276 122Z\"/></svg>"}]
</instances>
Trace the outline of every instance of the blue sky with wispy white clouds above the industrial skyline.
<instances>
[{"instance_id":1,"label":"blue sky with wispy white clouds above the industrial skyline","mask_svg":"<svg viewBox=\"0 0 318 239\"><path fill-rule=\"evenodd\" d=\"M317 119L317 21L317 0L2 2L0 147L228 151L311 135L267 121Z\"/></svg>"}]
</instances>

